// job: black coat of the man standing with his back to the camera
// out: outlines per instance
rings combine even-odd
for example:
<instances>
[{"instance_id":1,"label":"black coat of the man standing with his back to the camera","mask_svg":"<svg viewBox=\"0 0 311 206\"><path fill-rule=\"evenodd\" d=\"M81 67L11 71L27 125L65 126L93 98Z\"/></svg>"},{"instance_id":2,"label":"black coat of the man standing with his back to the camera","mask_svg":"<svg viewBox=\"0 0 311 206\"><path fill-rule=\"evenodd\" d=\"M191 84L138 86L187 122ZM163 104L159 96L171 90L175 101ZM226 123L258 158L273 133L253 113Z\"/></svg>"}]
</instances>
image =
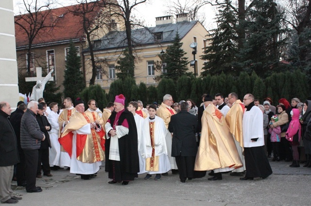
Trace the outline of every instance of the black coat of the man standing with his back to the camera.
<instances>
[{"instance_id":1,"label":"black coat of the man standing with his back to the camera","mask_svg":"<svg viewBox=\"0 0 311 206\"><path fill-rule=\"evenodd\" d=\"M196 156L198 151L195 139L197 125L196 116L188 111L182 110L178 114L171 116L169 131L173 132L172 157Z\"/></svg>"}]
</instances>

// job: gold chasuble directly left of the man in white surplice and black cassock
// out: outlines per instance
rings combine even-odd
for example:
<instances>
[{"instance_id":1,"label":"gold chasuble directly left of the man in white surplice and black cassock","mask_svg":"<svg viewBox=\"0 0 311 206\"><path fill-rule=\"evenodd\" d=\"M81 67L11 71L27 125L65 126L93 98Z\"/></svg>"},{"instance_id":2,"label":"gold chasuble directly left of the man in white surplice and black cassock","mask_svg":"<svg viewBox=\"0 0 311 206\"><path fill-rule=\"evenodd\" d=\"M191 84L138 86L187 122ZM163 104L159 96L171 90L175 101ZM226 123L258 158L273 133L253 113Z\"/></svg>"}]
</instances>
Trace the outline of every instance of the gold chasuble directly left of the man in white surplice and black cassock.
<instances>
[{"instance_id":1,"label":"gold chasuble directly left of the man in white surplice and black cassock","mask_svg":"<svg viewBox=\"0 0 311 206\"><path fill-rule=\"evenodd\" d=\"M234 102L227 115L225 116L225 121L230 129L230 133L233 134L236 141L240 143L240 146L244 149L243 144L243 130L242 121L244 114L244 105L241 100L238 99Z\"/></svg>"}]
</instances>

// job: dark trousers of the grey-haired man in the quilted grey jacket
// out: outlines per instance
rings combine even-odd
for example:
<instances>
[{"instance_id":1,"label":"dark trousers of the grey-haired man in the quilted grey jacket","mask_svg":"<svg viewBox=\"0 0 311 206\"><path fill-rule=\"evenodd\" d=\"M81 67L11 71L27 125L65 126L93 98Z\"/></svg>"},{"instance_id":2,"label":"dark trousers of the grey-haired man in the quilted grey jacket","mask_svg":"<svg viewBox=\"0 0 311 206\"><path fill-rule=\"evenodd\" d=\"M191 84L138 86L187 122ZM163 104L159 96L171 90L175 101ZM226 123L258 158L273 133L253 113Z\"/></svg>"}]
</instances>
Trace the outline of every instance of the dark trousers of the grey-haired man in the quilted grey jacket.
<instances>
[{"instance_id":1,"label":"dark trousers of the grey-haired man in the quilted grey jacket","mask_svg":"<svg viewBox=\"0 0 311 206\"><path fill-rule=\"evenodd\" d=\"M24 150L25 155L25 174L26 174L26 190L35 189L35 178L38 167L38 150Z\"/></svg>"}]
</instances>

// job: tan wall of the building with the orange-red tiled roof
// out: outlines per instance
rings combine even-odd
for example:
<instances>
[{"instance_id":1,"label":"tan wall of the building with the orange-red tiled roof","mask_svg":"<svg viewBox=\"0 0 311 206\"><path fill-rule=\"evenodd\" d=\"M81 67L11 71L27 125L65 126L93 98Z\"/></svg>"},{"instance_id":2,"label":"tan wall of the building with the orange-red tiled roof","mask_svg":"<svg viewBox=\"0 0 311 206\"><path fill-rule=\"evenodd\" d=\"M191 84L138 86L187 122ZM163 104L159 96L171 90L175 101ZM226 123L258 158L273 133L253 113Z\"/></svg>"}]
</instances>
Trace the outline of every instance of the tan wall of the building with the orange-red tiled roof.
<instances>
[{"instance_id":1,"label":"tan wall of the building with the orange-red tiled roof","mask_svg":"<svg viewBox=\"0 0 311 206\"><path fill-rule=\"evenodd\" d=\"M85 43L83 43L85 45ZM81 63L82 63L82 44L75 43L75 47L79 47ZM85 47L85 46L84 46ZM56 86L60 86L60 90L58 92L62 92L64 90L63 81L65 74L65 48L69 48L69 44L48 46L42 48L34 48L32 49L35 57L34 67L42 67L47 68L47 51L54 50L54 58L55 58L55 76L54 79L56 81ZM17 50L17 63L18 69L26 70L26 53L27 50ZM43 70L42 70L43 71ZM82 68L81 68L82 71ZM35 85L35 82L33 82ZM31 91L29 91L31 92Z\"/></svg>"}]
</instances>

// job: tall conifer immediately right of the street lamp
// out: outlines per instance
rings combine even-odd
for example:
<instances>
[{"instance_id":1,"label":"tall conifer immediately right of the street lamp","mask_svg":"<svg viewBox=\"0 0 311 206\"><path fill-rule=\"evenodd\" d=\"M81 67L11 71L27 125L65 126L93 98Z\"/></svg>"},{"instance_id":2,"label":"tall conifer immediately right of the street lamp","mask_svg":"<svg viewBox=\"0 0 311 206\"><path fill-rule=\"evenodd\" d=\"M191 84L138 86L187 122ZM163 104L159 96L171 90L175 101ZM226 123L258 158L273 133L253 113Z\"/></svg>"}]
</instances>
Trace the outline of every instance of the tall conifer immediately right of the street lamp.
<instances>
[{"instance_id":1,"label":"tall conifer immediately right of the street lamp","mask_svg":"<svg viewBox=\"0 0 311 206\"><path fill-rule=\"evenodd\" d=\"M233 67L238 53L237 16L232 9L231 0L225 0L223 4L219 5L216 23L217 28L211 30L212 37L207 39L211 43L206 47L204 55L201 56L201 59L206 61L202 76L221 74L222 72L235 74L237 72Z\"/></svg>"}]
</instances>

